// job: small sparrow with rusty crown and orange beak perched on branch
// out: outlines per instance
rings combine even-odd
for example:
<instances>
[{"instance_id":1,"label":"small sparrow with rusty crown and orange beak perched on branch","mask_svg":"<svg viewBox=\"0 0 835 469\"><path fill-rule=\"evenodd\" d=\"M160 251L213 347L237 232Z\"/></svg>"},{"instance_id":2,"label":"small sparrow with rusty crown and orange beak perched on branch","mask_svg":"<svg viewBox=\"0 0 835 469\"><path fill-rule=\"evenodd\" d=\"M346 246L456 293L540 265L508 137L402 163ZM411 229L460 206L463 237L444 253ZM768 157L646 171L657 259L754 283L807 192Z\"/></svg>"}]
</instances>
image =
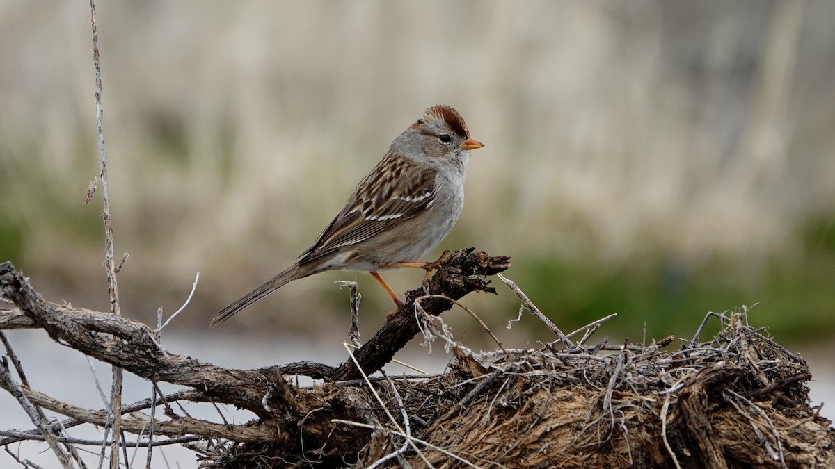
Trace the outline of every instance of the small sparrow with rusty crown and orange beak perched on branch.
<instances>
[{"instance_id":1,"label":"small sparrow with rusty crown and orange beak perched on branch","mask_svg":"<svg viewBox=\"0 0 835 469\"><path fill-rule=\"evenodd\" d=\"M453 229L463 208L469 150L483 146L470 138L458 111L443 105L428 108L394 139L388 153L296 264L226 306L211 325L292 280L325 270L370 272L399 308L402 301L377 272L402 266L428 268L417 260Z\"/></svg>"}]
</instances>

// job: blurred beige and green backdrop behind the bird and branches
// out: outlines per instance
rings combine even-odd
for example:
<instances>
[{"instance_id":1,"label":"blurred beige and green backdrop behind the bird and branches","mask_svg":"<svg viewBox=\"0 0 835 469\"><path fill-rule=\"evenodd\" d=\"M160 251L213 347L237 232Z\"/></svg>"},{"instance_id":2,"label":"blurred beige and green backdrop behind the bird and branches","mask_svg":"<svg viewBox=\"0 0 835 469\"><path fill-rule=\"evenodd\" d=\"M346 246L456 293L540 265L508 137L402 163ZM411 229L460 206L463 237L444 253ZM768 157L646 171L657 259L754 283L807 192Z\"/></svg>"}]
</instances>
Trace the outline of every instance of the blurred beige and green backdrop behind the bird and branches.
<instances>
[{"instance_id":1,"label":"blurred beige and green backdrop behind the bird and branches","mask_svg":"<svg viewBox=\"0 0 835 469\"><path fill-rule=\"evenodd\" d=\"M349 324L333 282L357 278L370 334L390 300L353 273L207 323L291 264L392 139L447 103L487 146L442 249L512 255L507 275L564 330L615 312L603 332L615 342L687 336L709 310L756 305L751 323L782 344L832 353L835 3L194 0L98 13L125 315L170 314L200 271L172 328L330 347ZM106 310L100 190L83 204L98 174L91 45L88 3L0 0L0 260L48 300ZM403 291L421 276L387 280ZM551 340L534 320L504 330L519 300L498 292L465 303L506 345ZM460 340L493 346L446 316ZM251 366L282 361L262 359ZM813 374L832 376L818 362Z\"/></svg>"}]
</instances>

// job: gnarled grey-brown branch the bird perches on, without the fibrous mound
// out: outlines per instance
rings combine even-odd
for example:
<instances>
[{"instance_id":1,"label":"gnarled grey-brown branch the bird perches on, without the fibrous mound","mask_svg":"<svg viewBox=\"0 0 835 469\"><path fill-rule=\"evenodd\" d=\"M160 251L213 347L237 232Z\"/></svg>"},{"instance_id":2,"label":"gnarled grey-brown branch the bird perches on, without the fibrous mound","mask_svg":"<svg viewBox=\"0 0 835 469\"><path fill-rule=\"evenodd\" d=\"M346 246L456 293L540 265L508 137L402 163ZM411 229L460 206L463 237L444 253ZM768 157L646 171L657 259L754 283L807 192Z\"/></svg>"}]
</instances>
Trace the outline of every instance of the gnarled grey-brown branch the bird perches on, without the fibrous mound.
<instances>
[{"instance_id":1,"label":"gnarled grey-brown branch the bird perches on, without the fibrous mound","mask_svg":"<svg viewBox=\"0 0 835 469\"><path fill-rule=\"evenodd\" d=\"M440 269L429 280L428 294L458 300L472 291L495 293L483 275L508 269L508 260L506 256L489 257L473 248L455 252L445 257ZM311 457L306 451L315 451L314 459L320 461L349 461L356 458L357 444L370 434L331 423L333 418L367 419L371 415L368 409L372 406L362 392L343 390L332 381L321 389L306 390L291 386L286 380L288 374L328 377L333 381L361 376L352 361L337 368L302 362L258 370L234 370L173 355L162 350L154 340L154 330L138 321L47 303L8 262L0 264L0 294L19 308L0 310L0 329L42 328L58 343L99 361L119 366L149 381L166 381L199 391L188 396L190 401L232 404L259 417L257 423L225 426L186 416L170 416L170 421L159 424L158 435L196 434L247 442L265 454L277 451L281 455L296 454L305 459ZM423 295L421 289L409 292L403 310L366 346L357 350L355 356L363 370L378 370L417 334L415 318L405 311L413 309L419 295ZM422 306L428 314L438 315L451 305L447 300L433 298ZM39 406L97 425L106 423L104 411L84 411L48 396L38 396L36 391L24 391ZM127 416L123 421L126 431L139 431L146 427L145 424Z\"/></svg>"}]
</instances>

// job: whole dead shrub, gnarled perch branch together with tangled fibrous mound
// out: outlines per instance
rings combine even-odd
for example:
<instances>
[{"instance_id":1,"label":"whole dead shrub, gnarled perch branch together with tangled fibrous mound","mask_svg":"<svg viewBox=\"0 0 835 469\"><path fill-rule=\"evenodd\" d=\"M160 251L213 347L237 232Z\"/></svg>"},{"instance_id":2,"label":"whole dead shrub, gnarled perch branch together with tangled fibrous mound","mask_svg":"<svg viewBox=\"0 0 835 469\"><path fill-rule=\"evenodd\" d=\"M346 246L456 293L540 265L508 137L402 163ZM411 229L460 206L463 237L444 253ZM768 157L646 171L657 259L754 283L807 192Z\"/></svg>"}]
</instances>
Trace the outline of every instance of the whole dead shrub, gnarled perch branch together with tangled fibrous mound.
<instances>
[{"instance_id":1,"label":"whole dead shrub, gnarled perch branch together with tangled fibrous mound","mask_svg":"<svg viewBox=\"0 0 835 469\"><path fill-rule=\"evenodd\" d=\"M491 291L483 275L507 266L506 258L473 250L448 256L428 291L410 292L407 305L355 352L360 369L377 370L396 351L392 343L417 332L423 313L413 309L416 300L437 315L452 303L434 295ZM336 381L367 373L352 363L309 362L226 370L168 354L138 322L44 302L9 264L0 265L0 293L19 308L0 311L0 327L42 327L89 356L190 387L162 401L226 402L256 412L257 421L238 426L171 410L167 420L154 421L154 432L170 438L230 441L200 446L212 466L835 466L835 431L809 406L806 363L746 325L743 315L707 315L721 321L721 332L698 341L703 322L677 350L665 350L672 337L646 346L587 346L586 332L562 350L546 344L473 354L456 347L452 366L438 376ZM325 379L302 388L291 386L291 373ZM75 421L107 419L106 411L20 389L36 406ZM126 408L147 409L146 401ZM127 431L148 425L149 417L135 411L123 419Z\"/></svg>"}]
</instances>

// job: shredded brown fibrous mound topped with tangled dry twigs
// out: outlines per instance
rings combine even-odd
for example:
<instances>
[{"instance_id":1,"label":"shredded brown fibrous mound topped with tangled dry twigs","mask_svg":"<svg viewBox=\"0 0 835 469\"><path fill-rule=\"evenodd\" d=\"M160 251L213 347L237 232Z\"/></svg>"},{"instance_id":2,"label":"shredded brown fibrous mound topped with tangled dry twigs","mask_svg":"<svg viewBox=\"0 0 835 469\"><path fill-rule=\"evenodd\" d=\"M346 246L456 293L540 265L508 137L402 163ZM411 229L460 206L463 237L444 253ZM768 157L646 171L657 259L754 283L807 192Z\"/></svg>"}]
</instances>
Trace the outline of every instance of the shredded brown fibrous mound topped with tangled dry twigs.
<instances>
[{"instance_id":1,"label":"shredded brown fibrous mound topped with tangled dry twigs","mask_svg":"<svg viewBox=\"0 0 835 469\"><path fill-rule=\"evenodd\" d=\"M709 320L721 331L701 341ZM746 313L709 313L688 340L584 345L590 335L539 350L453 345L442 375L338 385L376 401L364 422L335 420L372 431L357 438L353 466L835 464L835 430L809 405L806 363L747 325ZM240 464L230 453L215 459L223 461Z\"/></svg>"}]
</instances>

